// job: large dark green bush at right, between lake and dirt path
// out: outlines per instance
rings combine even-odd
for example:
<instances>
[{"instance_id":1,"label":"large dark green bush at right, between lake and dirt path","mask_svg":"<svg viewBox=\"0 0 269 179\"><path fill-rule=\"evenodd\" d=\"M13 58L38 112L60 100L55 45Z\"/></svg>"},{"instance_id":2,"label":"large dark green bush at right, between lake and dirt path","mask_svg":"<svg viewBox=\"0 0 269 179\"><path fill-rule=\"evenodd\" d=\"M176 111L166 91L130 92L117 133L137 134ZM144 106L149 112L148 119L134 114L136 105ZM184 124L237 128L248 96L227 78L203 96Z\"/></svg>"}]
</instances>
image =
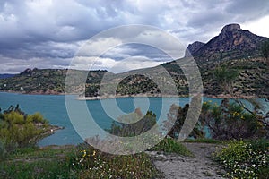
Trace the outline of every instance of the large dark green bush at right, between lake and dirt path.
<instances>
[{"instance_id":1,"label":"large dark green bush at right, between lake and dirt path","mask_svg":"<svg viewBox=\"0 0 269 179\"><path fill-rule=\"evenodd\" d=\"M213 139L256 139L265 136L259 117L256 112L248 113L236 103L229 103L229 99L223 99L220 106L204 102L200 122L208 127Z\"/></svg>"}]
</instances>

